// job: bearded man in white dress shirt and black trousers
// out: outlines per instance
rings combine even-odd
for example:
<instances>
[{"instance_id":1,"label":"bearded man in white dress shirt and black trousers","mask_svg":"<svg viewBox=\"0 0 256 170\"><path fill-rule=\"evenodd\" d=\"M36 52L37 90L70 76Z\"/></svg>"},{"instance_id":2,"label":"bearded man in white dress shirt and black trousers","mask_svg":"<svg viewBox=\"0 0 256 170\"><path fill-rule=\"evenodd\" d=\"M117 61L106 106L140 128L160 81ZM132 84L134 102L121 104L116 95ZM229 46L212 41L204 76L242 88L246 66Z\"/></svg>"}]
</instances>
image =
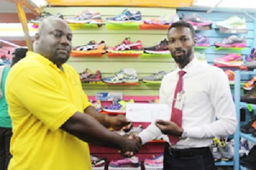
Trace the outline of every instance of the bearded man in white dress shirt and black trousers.
<instances>
[{"instance_id":1,"label":"bearded man in white dress shirt and black trousers","mask_svg":"<svg viewBox=\"0 0 256 170\"><path fill-rule=\"evenodd\" d=\"M185 71L182 126L173 121L156 120L137 139L144 144L162 133L168 137L180 137L172 146L172 141L167 143L164 154L166 170L214 169L214 158L209 148L212 138L233 134L237 125L227 75L222 69L197 61L193 49L196 44L195 30L187 22L171 24L168 39L177 69L163 78L160 103L169 105L171 110L178 72ZM171 114L169 118L171 120Z\"/></svg>"}]
</instances>

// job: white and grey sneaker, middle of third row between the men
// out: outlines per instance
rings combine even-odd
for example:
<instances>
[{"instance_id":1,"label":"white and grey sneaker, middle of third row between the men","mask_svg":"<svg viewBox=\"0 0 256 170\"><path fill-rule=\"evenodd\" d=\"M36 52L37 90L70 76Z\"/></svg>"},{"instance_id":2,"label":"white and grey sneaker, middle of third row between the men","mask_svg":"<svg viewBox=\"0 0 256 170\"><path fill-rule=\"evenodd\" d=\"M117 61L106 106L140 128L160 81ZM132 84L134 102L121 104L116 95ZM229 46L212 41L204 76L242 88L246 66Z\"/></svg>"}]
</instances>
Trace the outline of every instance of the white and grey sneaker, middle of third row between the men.
<instances>
[{"instance_id":1,"label":"white and grey sneaker, middle of third row between the men","mask_svg":"<svg viewBox=\"0 0 256 170\"><path fill-rule=\"evenodd\" d=\"M121 69L118 73L110 77L103 78L103 81L109 84L134 84L139 82L137 71L134 69L126 68Z\"/></svg>"}]
</instances>

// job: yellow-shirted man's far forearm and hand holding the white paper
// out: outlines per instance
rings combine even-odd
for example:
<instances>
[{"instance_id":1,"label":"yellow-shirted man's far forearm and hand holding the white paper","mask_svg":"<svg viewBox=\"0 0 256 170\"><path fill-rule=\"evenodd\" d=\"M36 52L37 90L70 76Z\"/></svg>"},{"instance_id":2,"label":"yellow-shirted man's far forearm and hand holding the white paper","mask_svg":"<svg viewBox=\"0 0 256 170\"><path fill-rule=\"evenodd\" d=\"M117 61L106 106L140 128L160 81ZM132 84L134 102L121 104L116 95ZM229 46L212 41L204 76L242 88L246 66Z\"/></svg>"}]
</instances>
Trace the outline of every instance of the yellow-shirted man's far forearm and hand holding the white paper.
<instances>
[{"instance_id":1,"label":"yellow-shirted man's far forearm and hand holding the white paper","mask_svg":"<svg viewBox=\"0 0 256 170\"><path fill-rule=\"evenodd\" d=\"M109 116L106 114L100 114L94 107L87 107L84 112L89 116L94 117L100 124L106 128L113 128L115 130L124 129L130 130L132 128L132 122L127 120L124 115Z\"/></svg>"}]
</instances>

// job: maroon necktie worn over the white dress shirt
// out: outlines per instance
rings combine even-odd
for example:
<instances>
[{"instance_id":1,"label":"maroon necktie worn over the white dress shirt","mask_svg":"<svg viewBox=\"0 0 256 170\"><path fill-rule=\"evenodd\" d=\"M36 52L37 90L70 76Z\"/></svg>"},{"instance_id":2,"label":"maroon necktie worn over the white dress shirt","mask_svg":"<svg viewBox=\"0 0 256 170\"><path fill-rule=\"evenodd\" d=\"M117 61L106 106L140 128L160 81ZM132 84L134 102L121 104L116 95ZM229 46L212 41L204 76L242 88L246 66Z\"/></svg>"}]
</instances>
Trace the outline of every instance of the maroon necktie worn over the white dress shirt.
<instances>
[{"instance_id":1,"label":"maroon necktie worn over the white dress shirt","mask_svg":"<svg viewBox=\"0 0 256 170\"><path fill-rule=\"evenodd\" d=\"M171 107L171 121L175 122L177 124L177 126L182 126L182 110L180 109L176 109L174 107L175 105L175 99L177 97L177 92L181 92L182 91L182 87L183 87L183 75L185 74L185 71L179 71L179 80L177 80L177 85L175 88L175 92L174 92L174 98L173 98L173 105ZM177 136L173 136L173 135L169 135L169 139L171 142L171 145L175 145L178 141L180 141L180 137Z\"/></svg>"}]
</instances>

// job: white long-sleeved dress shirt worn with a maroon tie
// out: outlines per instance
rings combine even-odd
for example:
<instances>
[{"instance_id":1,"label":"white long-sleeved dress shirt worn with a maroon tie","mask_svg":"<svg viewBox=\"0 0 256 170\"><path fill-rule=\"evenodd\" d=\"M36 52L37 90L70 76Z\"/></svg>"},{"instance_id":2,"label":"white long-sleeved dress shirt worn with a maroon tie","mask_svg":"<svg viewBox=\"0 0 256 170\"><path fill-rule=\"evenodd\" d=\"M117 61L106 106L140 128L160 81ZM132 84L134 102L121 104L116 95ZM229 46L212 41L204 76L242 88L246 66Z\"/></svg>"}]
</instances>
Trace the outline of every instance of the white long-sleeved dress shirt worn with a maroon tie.
<instances>
[{"instance_id":1,"label":"white long-sleeved dress shirt worn with a maroon tie","mask_svg":"<svg viewBox=\"0 0 256 170\"><path fill-rule=\"evenodd\" d=\"M160 86L160 103L169 105L170 110L180 70L177 68L165 75ZM200 63L197 58L183 70L186 73L183 76L182 128L186 131L186 139L178 141L173 148L206 147L210 146L213 137L233 134L237 125L236 109L224 71ZM160 135L160 129L153 122L139 137L144 144Z\"/></svg>"}]
</instances>

